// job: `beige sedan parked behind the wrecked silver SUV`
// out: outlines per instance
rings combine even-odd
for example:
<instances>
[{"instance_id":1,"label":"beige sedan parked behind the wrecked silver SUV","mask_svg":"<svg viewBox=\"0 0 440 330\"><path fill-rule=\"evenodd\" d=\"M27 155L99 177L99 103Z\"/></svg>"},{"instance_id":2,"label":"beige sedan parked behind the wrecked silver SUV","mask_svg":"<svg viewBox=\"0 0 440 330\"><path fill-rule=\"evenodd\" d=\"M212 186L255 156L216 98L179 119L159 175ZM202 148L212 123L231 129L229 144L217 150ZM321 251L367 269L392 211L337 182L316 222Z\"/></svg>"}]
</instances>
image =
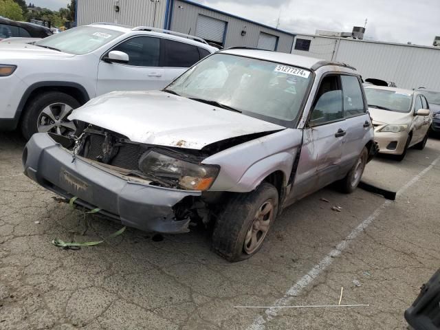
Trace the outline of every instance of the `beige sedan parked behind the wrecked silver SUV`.
<instances>
[{"instance_id":1,"label":"beige sedan parked behind the wrecked silver SUV","mask_svg":"<svg viewBox=\"0 0 440 330\"><path fill-rule=\"evenodd\" d=\"M423 94L380 86L366 86L365 94L380 153L402 160L411 146L425 147L432 119Z\"/></svg>"}]
</instances>

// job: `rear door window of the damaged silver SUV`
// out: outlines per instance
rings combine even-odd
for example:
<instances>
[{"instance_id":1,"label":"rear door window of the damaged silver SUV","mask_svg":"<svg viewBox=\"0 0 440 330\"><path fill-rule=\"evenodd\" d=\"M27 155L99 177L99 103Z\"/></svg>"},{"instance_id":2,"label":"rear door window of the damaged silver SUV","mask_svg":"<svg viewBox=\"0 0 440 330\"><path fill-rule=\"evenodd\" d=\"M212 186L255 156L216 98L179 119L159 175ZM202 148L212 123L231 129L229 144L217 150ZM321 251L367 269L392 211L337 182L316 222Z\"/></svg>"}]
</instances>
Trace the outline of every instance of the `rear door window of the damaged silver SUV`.
<instances>
[{"instance_id":1,"label":"rear door window of the damaged silver SUV","mask_svg":"<svg viewBox=\"0 0 440 330\"><path fill-rule=\"evenodd\" d=\"M344 92L344 116L350 118L364 113L364 98L358 77L341 76L341 82Z\"/></svg>"}]
</instances>

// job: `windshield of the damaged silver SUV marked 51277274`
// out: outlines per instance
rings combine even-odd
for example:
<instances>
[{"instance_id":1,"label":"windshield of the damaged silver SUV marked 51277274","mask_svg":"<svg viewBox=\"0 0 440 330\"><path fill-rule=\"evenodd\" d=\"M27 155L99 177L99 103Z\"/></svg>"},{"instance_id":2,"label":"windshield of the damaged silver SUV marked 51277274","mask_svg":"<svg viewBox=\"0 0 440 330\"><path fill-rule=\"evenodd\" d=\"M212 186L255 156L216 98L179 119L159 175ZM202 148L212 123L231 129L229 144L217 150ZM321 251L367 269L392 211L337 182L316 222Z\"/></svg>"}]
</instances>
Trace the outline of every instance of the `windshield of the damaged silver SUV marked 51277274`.
<instances>
[{"instance_id":1,"label":"windshield of the damaged silver SUV marked 51277274","mask_svg":"<svg viewBox=\"0 0 440 330\"><path fill-rule=\"evenodd\" d=\"M192 67L165 90L293 127L311 79L305 69L220 53Z\"/></svg>"}]
</instances>

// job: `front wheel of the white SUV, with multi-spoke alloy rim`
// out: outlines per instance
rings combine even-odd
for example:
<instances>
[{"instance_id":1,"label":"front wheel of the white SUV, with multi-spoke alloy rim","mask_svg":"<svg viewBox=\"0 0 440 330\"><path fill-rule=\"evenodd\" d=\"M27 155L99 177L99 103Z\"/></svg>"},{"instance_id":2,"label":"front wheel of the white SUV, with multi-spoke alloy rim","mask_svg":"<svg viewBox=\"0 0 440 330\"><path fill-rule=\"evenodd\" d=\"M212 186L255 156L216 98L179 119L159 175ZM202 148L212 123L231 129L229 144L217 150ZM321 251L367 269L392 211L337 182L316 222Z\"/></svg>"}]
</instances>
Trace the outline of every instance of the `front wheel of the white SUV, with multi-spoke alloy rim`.
<instances>
[{"instance_id":1,"label":"front wheel of the white SUV, with multi-spoke alloy rim","mask_svg":"<svg viewBox=\"0 0 440 330\"><path fill-rule=\"evenodd\" d=\"M34 133L74 135L76 125L67 120L67 116L79 106L78 100L61 91L48 91L36 96L28 101L24 110L21 132L26 140Z\"/></svg>"}]
</instances>

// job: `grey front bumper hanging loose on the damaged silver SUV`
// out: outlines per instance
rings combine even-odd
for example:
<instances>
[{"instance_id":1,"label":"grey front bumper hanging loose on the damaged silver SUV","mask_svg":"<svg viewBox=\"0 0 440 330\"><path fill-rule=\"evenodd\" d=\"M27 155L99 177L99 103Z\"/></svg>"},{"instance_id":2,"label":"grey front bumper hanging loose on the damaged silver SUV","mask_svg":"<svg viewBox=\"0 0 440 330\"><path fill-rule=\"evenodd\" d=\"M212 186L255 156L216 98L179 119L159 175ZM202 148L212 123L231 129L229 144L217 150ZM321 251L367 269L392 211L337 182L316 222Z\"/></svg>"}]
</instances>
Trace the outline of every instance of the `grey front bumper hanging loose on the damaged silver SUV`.
<instances>
[{"instance_id":1,"label":"grey front bumper hanging loose on the damaged silver SUV","mask_svg":"<svg viewBox=\"0 0 440 330\"><path fill-rule=\"evenodd\" d=\"M85 208L128 225L152 232L188 232L190 219L177 221L173 207L185 197L200 196L186 191L133 182L76 158L47 133L34 134L23 151L24 173L44 188Z\"/></svg>"}]
</instances>

